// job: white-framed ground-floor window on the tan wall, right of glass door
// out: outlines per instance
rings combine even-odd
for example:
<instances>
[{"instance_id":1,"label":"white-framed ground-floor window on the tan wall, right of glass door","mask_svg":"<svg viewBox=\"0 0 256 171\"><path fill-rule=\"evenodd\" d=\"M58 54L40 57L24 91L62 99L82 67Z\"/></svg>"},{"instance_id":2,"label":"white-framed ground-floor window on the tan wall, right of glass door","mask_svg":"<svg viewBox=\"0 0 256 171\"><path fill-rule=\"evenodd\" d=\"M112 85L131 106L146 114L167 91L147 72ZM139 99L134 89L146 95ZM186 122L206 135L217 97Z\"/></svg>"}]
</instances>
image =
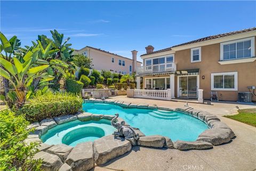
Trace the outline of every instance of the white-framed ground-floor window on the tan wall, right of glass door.
<instances>
[{"instance_id":1,"label":"white-framed ground-floor window on the tan wall, right of glass door","mask_svg":"<svg viewBox=\"0 0 256 171\"><path fill-rule=\"evenodd\" d=\"M212 73L211 89L237 91L237 72Z\"/></svg>"}]
</instances>

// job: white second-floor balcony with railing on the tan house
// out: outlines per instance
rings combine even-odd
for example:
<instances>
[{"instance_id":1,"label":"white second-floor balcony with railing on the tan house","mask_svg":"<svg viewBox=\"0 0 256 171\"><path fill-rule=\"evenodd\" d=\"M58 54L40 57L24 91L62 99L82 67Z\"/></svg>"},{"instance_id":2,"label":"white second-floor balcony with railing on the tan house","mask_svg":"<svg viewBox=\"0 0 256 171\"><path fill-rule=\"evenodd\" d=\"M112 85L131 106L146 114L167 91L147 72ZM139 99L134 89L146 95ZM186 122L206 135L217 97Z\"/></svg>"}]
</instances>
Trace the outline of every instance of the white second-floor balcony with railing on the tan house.
<instances>
[{"instance_id":1,"label":"white second-floor balcony with railing on the tan house","mask_svg":"<svg viewBox=\"0 0 256 171\"><path fill-rule=\"evenodd\" d=\"M157 74L161 72L175 72L176 64L174 62L154 64L137 68L137 75L140 74Z\"/></svg>"}]
</instances>

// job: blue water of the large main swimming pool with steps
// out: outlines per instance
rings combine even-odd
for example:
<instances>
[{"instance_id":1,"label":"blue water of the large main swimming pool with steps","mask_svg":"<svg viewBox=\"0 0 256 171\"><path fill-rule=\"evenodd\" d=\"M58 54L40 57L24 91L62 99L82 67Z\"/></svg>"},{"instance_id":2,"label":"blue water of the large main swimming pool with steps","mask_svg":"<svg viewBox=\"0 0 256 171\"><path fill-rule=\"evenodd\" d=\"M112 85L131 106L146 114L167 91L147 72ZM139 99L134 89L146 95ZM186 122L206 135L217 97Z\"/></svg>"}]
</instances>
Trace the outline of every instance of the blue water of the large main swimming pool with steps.
<instances>
[{"instance_id":1,"label":"blue water of the large main swimming pool with steps","mask_svg":"<svg viewBox=\"0 0 256 171\"><path fill-rule=\"evenodd\" d=\"M168 136L173 141L195 141L208 129L201 120L175 111L124 108L108 103L83 103L83 110L104 115L119 113L119 117L144 134Z\"/></svg>"}]
</instances>

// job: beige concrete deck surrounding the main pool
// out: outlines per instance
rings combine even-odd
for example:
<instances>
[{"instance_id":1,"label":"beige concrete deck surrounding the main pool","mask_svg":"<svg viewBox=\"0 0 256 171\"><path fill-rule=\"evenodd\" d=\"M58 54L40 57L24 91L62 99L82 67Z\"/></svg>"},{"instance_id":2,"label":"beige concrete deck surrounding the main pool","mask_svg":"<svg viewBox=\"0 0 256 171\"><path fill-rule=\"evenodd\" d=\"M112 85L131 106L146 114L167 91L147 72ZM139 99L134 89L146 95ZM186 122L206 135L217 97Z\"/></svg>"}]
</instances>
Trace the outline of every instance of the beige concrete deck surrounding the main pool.
<instances>
[{"instance_id":1,"label":"beige concrete deck surrounding the main pool","mask_svg":"<svg viewBox=\"0 0 256 171\"><path fill-rule=\"evenodd\" d=\"M149 100L115 96L108 100L132 103L156 104L158 107L178 108L184 102ZM176 149L159 150L153 148L133 147L132 151L111 160L95 171L113 170L255 170L256 169L256 128L239 123L223 115L235 115L239 109L256 108L255 105L217 102L211 105L189 103L190 107L205 110L217 115L221 121L230 126L236 134L232 142L214 146L210 150L180 151ZM106 170L107 171L107 170Z\"/></svg>"}]
</instances>

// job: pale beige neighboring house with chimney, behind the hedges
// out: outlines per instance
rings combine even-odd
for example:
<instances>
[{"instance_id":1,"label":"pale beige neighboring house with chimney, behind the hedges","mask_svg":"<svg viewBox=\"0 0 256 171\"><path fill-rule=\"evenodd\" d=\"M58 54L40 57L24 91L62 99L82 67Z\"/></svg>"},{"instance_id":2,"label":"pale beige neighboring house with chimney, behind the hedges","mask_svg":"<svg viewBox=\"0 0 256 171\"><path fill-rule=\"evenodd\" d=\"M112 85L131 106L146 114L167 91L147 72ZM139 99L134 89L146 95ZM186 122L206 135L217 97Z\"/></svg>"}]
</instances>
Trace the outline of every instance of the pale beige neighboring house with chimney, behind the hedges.
<instances>
[{"instance_id":1,"label":"pale beige neighboring house with chimney, behind the hedges","mask_svg":"<svg viewBox=\"0 0 256 171\"><path fill-rule=\"evenodd\" d=\"M142 64L142 62L137 61L137 51L132 51L132 59L90 46L75 50L75 53L84 54L91 58L94 69L107 70L119 74L132 74Z\"/></svg>"}]
</instances>

